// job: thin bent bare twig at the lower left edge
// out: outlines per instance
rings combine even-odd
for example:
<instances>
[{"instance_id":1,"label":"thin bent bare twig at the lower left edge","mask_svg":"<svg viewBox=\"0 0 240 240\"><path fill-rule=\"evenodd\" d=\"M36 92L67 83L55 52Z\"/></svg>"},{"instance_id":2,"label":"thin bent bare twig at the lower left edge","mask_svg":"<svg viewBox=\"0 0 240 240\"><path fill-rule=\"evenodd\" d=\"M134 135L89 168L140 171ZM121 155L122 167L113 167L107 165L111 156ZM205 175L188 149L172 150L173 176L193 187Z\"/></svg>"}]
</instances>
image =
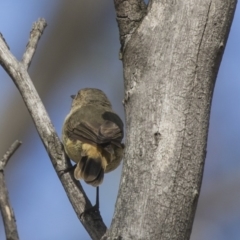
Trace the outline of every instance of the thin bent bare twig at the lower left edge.
<instances>
[{"instance_id":1,"label":"thin bent bare twig at the lower left edge","mask_svg":"<svg viewBox=\"0 0 240 240\"><path fill-rule=\"evenodd\" d=\"M0 210L7 240L18 240L19 237L14 212L9 201L8 190L4 179L4 168L21 144L20 141L16 140L0 160Z\"/></svg>"}]
</instances>

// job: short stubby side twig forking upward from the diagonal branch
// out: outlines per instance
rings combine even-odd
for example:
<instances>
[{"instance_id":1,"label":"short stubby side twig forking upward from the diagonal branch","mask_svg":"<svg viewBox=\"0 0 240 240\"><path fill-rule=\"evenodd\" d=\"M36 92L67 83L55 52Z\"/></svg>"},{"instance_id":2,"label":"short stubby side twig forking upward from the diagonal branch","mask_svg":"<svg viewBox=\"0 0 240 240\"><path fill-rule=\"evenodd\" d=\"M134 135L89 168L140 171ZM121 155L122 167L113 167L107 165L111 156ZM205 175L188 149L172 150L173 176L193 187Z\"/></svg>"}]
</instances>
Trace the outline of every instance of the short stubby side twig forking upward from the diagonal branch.
<instances>
[{"instance_id":1,"label":"short stubby side twig forking upward from the diagonal branch","mask_svg":"<svg viewBox=\"0 0 240 240\"><path fill-rule=\"evenodd\" d=\"M30 39L28 41L26 51L23 54L23 59L22 59L23 65L26 67L26 69L30 67L33 55L37 49L38 41L42 36L46 26L47 26L47 23L43 18L39 19L37 22L33 24L32 31L30 33Z\"/></svg>"}]
</instances>

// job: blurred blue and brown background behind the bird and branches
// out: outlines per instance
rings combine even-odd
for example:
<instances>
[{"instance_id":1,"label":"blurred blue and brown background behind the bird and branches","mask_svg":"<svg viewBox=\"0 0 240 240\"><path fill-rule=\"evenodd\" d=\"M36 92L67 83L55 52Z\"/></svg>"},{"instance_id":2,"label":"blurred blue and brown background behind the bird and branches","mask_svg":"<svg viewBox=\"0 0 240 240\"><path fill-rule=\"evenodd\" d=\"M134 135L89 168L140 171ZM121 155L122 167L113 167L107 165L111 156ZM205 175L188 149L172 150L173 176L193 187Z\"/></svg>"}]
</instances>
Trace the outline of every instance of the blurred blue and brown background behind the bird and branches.
<instances>
[{"instance_id":1,"label":"blurred blue and brown background behind the bird and branches","mask_svg":"<svg viewBox=\"0 0 240 240\"><path fill-rule=\"evenodd\" d=\"M84 87L102 89L124 119L122 63L113 1L0 2L0 32L20 60L34 21L48 27L30 67L30 76L59 136L70 95ZM218 74L211 109L207 159L191 240L240 239L240 10L237 7ZM88 240L21 96L0 67L0 157L12 142L23 145L5 177L20 239ZM121 167L105 175L100 211L109 227ZM83 183L92 202L95 188ZM0 218L0 240L5 239Z\"/></svg>"}]
</instances>

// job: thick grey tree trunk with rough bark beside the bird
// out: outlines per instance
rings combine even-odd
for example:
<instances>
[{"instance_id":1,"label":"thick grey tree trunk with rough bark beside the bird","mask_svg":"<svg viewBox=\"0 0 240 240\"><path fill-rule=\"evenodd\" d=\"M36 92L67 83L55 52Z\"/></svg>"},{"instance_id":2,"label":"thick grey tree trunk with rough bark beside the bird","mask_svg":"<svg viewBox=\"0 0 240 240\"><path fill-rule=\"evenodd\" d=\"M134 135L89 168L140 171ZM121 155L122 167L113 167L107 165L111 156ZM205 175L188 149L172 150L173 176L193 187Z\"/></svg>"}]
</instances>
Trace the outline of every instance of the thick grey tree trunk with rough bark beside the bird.
<instances>
[{"instance_id":1,"label":"thick grey tree trunk with rough bark beside the bird","mask_svg":"<svg viewBox=\"0 0 240 240\"><path fill-rule=\"evenodd\" d=\"M152 0L145 12L140 0L115 0L127 134L103 239L190 238L212 94L236 2ZM136 12L138 21L131 18ZM124 22L134 25L126 38Z\"/></svg>"}]
</instances>

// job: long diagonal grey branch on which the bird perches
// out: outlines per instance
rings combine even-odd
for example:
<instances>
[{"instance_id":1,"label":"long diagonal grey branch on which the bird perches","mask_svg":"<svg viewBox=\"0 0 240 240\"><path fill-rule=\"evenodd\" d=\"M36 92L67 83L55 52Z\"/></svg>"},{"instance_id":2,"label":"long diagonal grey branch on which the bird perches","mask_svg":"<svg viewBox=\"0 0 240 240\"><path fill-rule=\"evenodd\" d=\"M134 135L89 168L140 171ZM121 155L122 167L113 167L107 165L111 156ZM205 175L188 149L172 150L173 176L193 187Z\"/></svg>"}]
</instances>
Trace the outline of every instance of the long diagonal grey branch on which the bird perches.
<instances>
[{"instance_id":1,"label":"long diagonal grey branch on which the bird perches","mask_svg":"<svg viewBox=\"0 0 240 240\"><path fill-rule=\"evenodd\" d=\"M36 46L37 43L32 44L31 39L32 38L30 37L28 45ZM18 62L7 49L4 41L0 38L0 63L19 89L37 128L39 136L49 154L52 164L79 220L82 222L92 239L100 239L107 229L100 214L83 214L82 218L80 217L81 213L86 208L91 207L91 203L80 182L74 179L73 174L71 172L62 174L63 170L70 167L70 162L64 153L62 143L27 72L26 67L31 62L32 56L33 54L28 54L28 57L24 60L25 64Z\"/></svg>"}]
</instances>

